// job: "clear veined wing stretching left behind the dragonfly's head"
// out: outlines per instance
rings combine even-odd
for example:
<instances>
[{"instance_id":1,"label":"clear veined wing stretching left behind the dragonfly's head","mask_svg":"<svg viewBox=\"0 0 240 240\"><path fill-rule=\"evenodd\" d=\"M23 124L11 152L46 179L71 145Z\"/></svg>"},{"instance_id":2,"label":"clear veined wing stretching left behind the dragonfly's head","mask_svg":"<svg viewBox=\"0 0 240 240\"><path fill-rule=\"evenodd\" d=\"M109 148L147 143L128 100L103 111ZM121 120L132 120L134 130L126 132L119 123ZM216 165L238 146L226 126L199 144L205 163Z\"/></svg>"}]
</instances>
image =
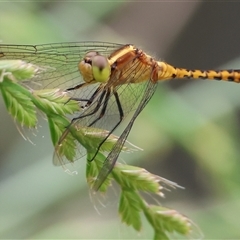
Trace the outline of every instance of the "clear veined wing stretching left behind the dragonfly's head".
<instances>
[{"instance_id":1,"label":"clear veined wing stretching left behind the dragonfly's head","mask_svg":"<svg viewBox=\"0 0 240 240\"><path fill-rule=\"evenodd\" d=\"M72 42L44 45L0 44L0 60L20 59L39 66L42 71L25 81L33 89L60 88L65 90L83 82L78 63L89 51L109 56L121 44L103 42Z\"/></svg>"}]
</instances>

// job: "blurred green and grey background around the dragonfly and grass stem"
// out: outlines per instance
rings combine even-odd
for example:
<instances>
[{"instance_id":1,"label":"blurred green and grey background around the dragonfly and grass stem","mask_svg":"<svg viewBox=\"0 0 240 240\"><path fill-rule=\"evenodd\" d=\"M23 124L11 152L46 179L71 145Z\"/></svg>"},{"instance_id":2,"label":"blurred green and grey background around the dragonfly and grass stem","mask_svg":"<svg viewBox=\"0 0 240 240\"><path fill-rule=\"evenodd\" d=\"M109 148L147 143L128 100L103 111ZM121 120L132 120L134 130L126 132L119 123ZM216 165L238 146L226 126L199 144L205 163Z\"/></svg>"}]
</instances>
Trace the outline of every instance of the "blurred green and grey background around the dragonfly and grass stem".
<instances>
[{"instance_id":1,"label":"blurred green and grey background around the dragonfly and grass stem","mask_svg":"<svg viewBox=\"0 0 240 240\"><path fill-rule=\"evenodd\" d=\"M186 68L240 68L240 3L36 1L0 3L2 43L99 40L134 43ZM160 83L129 140L143 152L121 159L185 189L160 199L192 219L206 239L240 239L240 86ZM0 238L151 239L120 223L118 196L98 214L85 182L53 167L47 123L24 141L0 99Z\"/></svg>"}]
</instances>

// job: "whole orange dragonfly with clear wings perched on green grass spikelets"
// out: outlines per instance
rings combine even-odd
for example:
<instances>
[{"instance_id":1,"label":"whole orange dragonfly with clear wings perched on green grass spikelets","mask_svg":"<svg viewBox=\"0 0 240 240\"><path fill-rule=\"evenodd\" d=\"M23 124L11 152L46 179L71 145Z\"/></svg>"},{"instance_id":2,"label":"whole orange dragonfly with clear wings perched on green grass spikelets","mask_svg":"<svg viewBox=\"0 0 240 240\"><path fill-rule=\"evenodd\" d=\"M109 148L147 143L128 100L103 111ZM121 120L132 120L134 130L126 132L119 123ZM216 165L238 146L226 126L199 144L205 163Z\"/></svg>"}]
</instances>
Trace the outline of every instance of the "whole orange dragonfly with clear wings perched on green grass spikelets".
<instances>
[{"instance_id":1,"label":"whole orange dragonfly with clear wings perched on green grass spikelets","mask_svg":"<svg viewBox=\"0 0 240 240\"><path fill-rule=\"evenodd\" d=\"M70 42L43 45L0 44L1 59L21 59L44 69L27 84L33 89L60 88L79 101L82 111L71 121L72 126L102 129L103 141L95 149L94 160L102 144L124 122L115 145L106 156L94 183L98 190L112 171L134 121L153 96L159 81L169 79L210 79L240 82L240 69L191 70L157 61L132 44L107 42ZM77 128L76 127L76 128ZM107 134L106 134L107 130ZM70 162L61 156L62 143L69 128L55 146L55 165ZM86 152L79 146L75 160Z\"/></svg>"}]
</instances>

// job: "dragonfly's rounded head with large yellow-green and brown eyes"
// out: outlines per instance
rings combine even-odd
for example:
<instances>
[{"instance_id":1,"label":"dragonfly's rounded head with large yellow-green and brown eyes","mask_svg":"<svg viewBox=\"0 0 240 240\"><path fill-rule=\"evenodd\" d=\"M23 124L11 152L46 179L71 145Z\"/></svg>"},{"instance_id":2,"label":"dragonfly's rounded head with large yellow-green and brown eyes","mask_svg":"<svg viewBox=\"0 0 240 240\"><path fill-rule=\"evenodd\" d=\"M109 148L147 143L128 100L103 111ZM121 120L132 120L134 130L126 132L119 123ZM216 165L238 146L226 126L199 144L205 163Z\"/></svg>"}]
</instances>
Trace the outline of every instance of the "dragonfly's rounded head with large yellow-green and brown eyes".
<instances>
[{"instance_id":1,"label":"dragonfly's rounded head with large yellow-green and brown eyes","mask_svg":"<svg viewBox=\"0 0 240 240\"><path fill-rule=\"evenodd\" d=\"M108 59L98 52L88 52L79 62L79 71L86 83L104 83L111 75L111 67Z\"/></svg>"}]
</instances>

